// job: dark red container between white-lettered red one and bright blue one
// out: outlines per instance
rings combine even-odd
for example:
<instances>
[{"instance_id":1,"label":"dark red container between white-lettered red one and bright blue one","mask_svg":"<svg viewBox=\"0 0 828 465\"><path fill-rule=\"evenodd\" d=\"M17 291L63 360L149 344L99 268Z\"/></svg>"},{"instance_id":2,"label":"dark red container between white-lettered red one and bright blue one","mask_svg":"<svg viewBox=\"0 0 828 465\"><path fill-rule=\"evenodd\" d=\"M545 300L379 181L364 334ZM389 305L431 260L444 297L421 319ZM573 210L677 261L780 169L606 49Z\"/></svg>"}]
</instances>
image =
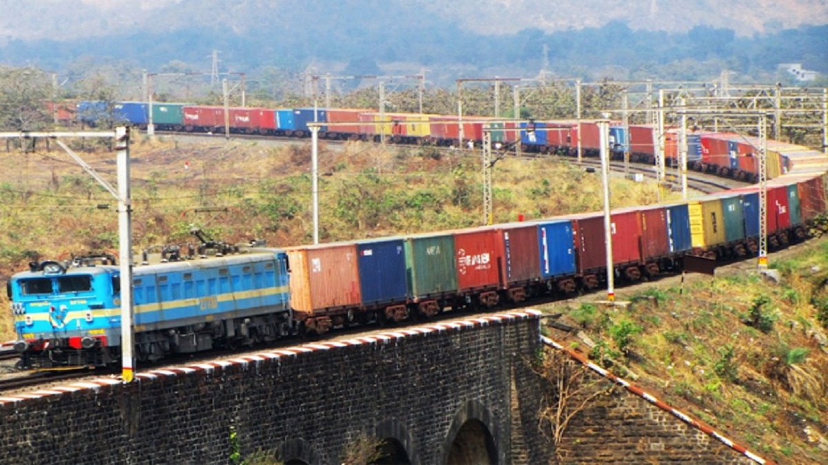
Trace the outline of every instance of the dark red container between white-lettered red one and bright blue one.
<instances>
[{"instance_id":1,"label":"dark red container between white-lettered red one and bright blue one","mask_svg":"<svg viewBox=\"0 0 828 465\"><path fill-rule=\"evenodd\" d=\"M500 284L522 284L541 279L540 249L537 247L537 224L508 223L494 227L498 232Z\"/></svg>"}]
</instances>

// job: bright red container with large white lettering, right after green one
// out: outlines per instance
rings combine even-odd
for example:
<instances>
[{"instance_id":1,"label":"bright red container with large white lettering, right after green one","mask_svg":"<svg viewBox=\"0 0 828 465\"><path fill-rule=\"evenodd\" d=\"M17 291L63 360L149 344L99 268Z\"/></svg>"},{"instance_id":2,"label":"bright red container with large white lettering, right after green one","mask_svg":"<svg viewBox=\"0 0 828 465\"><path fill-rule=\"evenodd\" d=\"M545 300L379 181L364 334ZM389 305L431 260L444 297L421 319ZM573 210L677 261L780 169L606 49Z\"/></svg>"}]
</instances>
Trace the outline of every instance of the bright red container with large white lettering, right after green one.
<instances>
[{"instance_id":1,"label":"bright red container with large white lettering, right after green one","mask_svg":"<svg viewBox=\"0 0 828 465\"><path fill-rule=\"evenodd\" d=\"M460 292L498 287L503 259L498 256L500 237L493 228L462 229L455 237L457 287Z\"/></svg>"}]
</instances>

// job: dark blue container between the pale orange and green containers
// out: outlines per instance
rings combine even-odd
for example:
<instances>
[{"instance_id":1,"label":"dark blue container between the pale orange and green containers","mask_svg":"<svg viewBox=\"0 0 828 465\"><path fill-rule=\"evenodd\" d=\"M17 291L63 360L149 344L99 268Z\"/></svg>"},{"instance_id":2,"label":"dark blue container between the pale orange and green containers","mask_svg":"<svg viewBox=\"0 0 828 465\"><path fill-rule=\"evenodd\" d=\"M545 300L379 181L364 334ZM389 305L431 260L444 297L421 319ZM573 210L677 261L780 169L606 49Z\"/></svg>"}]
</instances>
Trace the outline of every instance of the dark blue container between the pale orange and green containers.
<instances>
[{"instance_id":1,"label":"dark blue container between the pale orange and green containers","mask_svg":"<svg viewBox=\"0 0 828 465\"><path fill-rule=\"evenodd\" d=\"M404 302L408 287L402 239L358 242L357 253L363 304Z\"/></svg>"}]
</instances>

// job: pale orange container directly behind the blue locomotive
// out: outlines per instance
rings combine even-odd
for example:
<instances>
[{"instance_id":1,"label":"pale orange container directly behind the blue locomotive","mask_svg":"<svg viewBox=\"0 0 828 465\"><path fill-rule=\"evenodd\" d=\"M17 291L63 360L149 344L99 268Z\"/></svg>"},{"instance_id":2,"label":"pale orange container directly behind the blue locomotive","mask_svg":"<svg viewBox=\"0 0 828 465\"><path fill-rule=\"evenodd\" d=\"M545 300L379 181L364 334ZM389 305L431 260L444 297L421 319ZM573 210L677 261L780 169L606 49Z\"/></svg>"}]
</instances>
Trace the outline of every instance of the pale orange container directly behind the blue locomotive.
<instances>
[{"instance_id":1,"label":"pale orange container directly behind the blue locomotive","mask_svg":"<svg viewBox=\"0 0 828 465\"><path fill-rule=\"evenodd\" d=\"M353 242L290 247L291 307L313 315L361 304L357 248Z\"/></svg>"}]
</instances>

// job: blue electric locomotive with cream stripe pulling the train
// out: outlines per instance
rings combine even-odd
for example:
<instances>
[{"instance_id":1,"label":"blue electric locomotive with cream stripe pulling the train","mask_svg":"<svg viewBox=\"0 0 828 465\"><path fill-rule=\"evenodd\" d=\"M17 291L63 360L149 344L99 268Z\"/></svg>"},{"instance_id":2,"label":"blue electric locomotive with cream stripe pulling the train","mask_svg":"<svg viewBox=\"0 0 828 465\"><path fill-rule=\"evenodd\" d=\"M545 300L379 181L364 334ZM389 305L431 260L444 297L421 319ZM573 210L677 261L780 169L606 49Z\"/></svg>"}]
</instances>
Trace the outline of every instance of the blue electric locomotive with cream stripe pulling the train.
<instances>
[{"instance_id":1,"label":"blue electric locomotive with cream stripe pulling the train","mask_svg":"<svg viewBox=\"0 0 828 465\"><path fill-rule=\"evenodd\" d=\"M20 368L119 362L120 269L97 258L32 262L12 276L7 291ZM137 266L132 279L139 361L273 341L296 330L281 250Z\"/></svg>"}]
</instances>

